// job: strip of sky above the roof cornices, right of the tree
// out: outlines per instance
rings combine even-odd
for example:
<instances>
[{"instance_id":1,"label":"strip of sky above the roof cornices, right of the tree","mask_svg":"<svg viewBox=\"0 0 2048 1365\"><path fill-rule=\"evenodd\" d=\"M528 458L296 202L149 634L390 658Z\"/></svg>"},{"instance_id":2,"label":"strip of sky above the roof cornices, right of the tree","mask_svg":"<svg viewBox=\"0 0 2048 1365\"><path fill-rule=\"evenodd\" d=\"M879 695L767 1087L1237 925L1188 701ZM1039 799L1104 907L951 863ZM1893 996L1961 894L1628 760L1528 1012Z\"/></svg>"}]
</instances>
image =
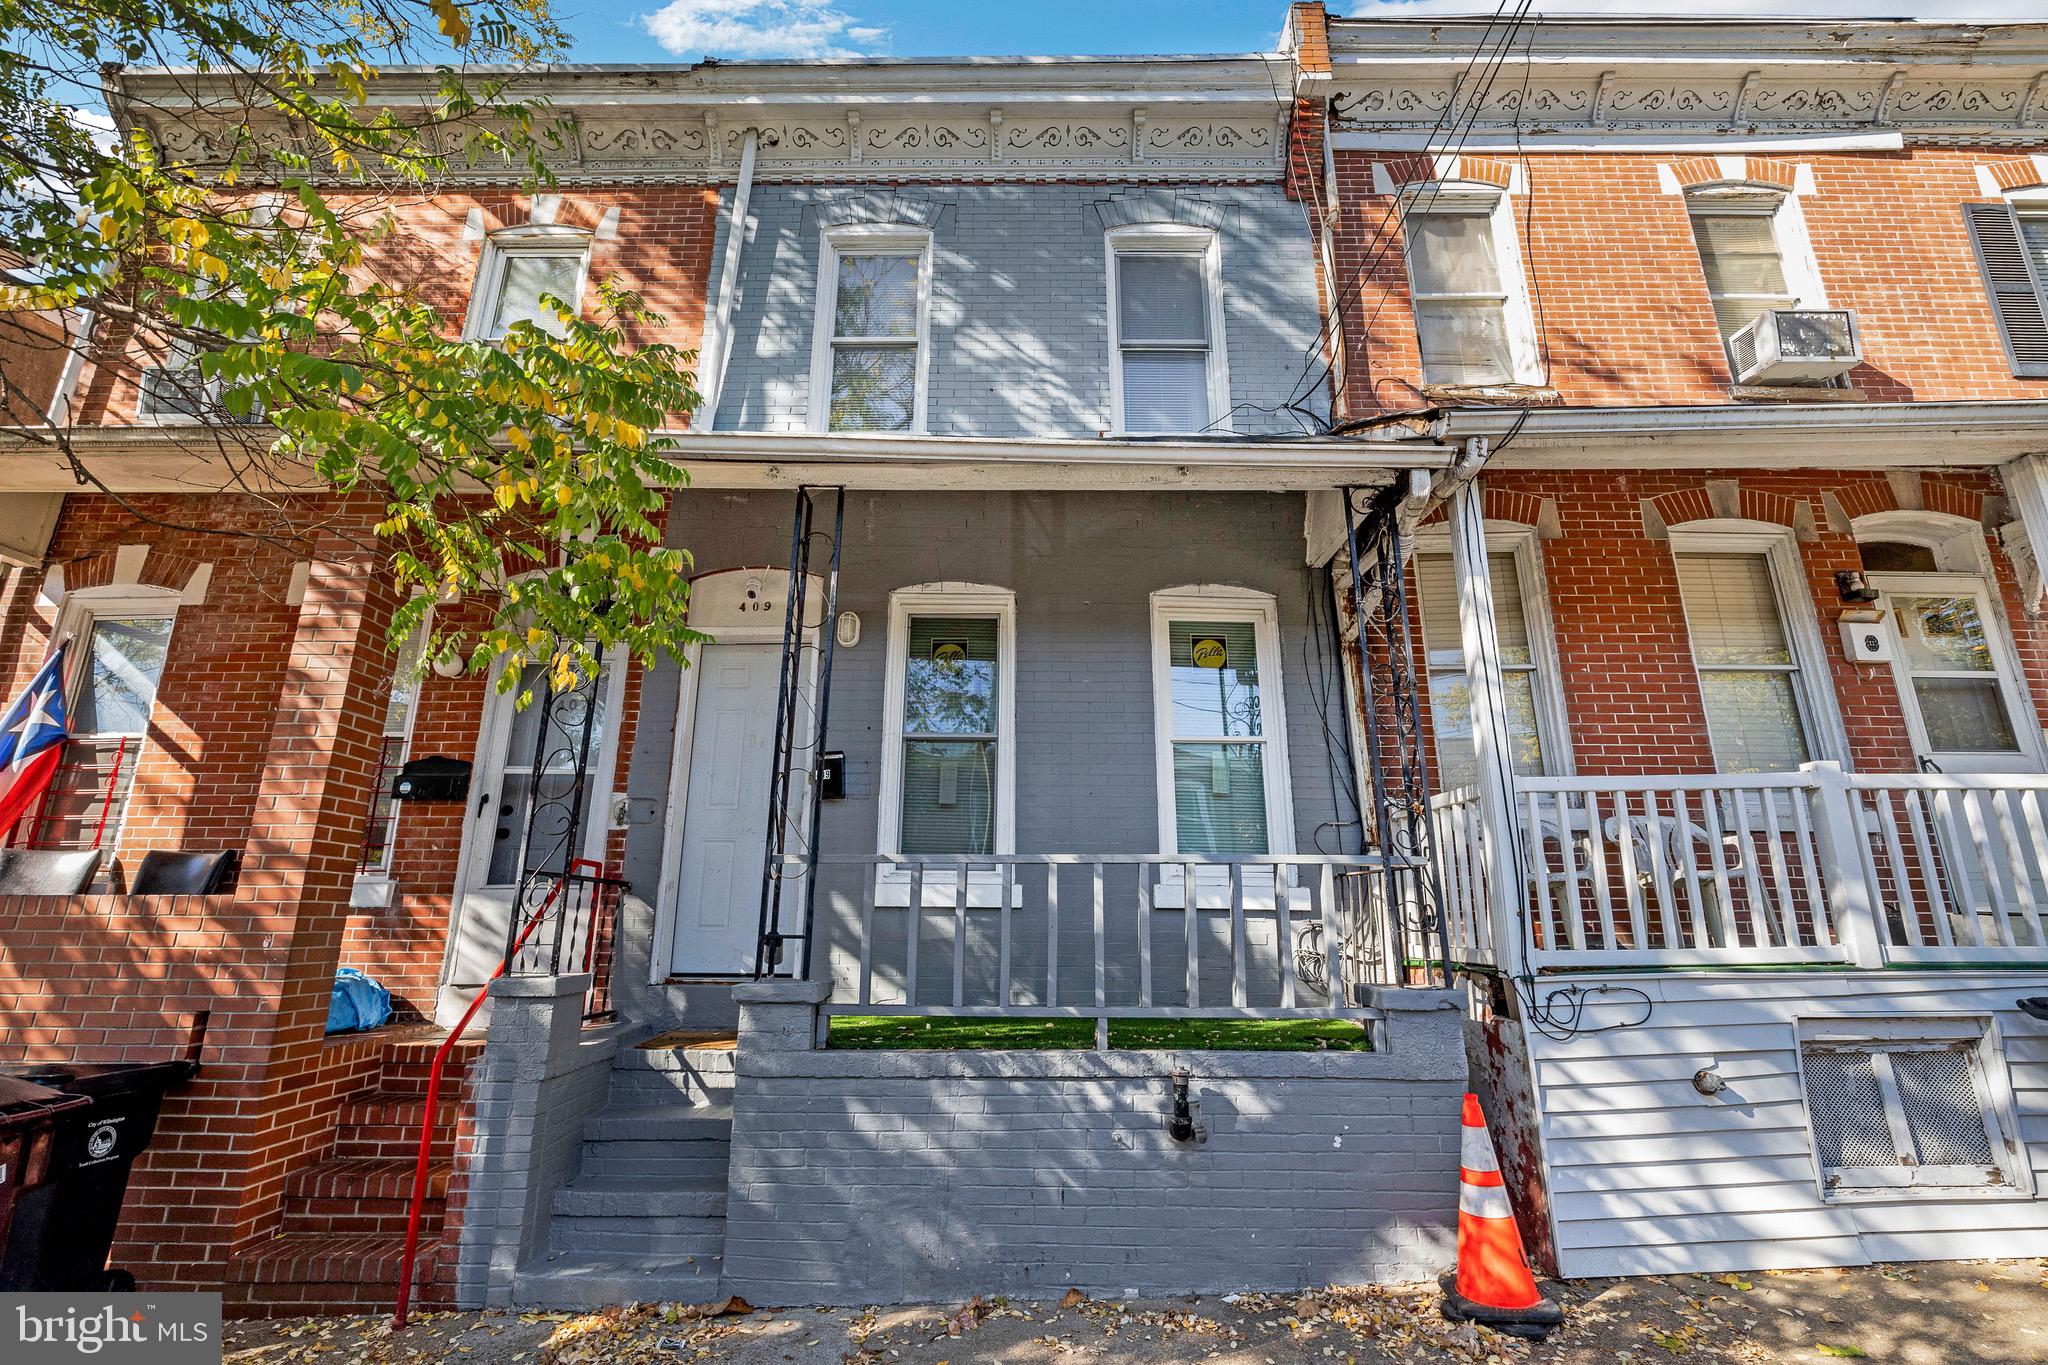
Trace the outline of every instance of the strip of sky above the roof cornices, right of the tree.
<instances>
[{"instance_id":1,"label":"strip of sky above the roof cornices, right of the tree","mask_svg":"<svg viewBox=\"0 0 2048 1365\"><path fill-rule=\"evenodd\" d=\"M1669 0L1667 0L1669 4ZM1473 14L1491 0L1341 0L1348 14ZM1669 12L1657 0L1536 0L1536 12ZM578 61L1264 51L1284 0L557 0ZM1688 14L2048 18L2048 0L1688 0Z\"/></svg>"}]
</instances>

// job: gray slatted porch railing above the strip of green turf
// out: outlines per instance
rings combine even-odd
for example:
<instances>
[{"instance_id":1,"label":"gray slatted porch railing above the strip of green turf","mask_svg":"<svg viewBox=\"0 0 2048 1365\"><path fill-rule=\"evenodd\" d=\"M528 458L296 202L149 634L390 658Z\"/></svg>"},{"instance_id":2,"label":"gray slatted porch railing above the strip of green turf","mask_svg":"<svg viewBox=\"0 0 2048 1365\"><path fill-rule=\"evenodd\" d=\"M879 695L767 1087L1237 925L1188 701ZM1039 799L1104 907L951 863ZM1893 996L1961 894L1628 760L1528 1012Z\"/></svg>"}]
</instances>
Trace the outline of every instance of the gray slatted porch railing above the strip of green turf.
<instances>
[{"instance_id":1,"label":"gray slatted porch railing above the strip of green turf","mask_svg":"<svg viewBox=\"0 0 2048 1365\"><path fill-rule=\"evenodd\" d=\"M797 886L799 857L786 882ZM1376 857L821 857L829 1015L1376 1019ZM1194 907L1190 911L1190 888Z\"/></svg>"}]
</instances>

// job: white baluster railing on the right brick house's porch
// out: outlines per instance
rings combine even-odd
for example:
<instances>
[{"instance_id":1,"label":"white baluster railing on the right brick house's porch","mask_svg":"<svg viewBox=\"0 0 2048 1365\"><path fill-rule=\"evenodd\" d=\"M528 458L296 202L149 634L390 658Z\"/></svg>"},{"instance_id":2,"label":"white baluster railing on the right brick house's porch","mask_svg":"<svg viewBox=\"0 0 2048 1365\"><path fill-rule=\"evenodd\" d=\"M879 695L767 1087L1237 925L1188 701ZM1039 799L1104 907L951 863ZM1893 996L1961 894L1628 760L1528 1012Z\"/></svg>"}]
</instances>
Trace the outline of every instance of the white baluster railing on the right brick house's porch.
<instances>
[{"instance_id":1,"label":"white baluster railing on the right brick house's porch","mask_svg":"<svg viewBox=\"0 0 2048 1365\"><path fill-rule=\"evenodd\" d=\"M1452 958L1495 960L1475 792L1434 802ZM1518 778L1534 968L2048 962L2048 776Z\"/></svg>"}]
</instances>

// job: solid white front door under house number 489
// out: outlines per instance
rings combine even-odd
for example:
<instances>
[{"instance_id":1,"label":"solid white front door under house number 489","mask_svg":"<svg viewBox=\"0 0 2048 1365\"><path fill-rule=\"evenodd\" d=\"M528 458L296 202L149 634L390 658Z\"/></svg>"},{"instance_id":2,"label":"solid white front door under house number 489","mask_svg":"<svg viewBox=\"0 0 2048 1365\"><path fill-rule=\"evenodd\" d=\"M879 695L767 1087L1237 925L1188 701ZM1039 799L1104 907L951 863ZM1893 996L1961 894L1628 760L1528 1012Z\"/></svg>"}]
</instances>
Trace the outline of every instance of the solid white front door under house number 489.
<instances>
[{"instance_id":1,"label":"solid white front door under house number 489","mask_svg":"<svg viewBox=\"0 0 2048 1365\"><path fill-rule=\"evenodd\" d=\"M705 645L688 718L688 794L676 888L676 974L754 972L780 645ZM807 796L793 784L791 800Z\"/></svg>"}]
</instances>

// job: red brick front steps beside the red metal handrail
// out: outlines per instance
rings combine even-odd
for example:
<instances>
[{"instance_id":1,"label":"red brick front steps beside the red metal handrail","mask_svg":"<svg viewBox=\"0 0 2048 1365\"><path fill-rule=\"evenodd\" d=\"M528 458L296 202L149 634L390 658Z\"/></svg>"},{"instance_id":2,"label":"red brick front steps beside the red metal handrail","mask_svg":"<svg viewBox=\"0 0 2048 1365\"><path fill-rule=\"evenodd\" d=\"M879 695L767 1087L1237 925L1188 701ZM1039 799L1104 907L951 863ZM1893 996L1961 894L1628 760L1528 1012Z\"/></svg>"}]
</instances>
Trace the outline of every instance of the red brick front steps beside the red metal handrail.
<instances>
[{"instance_id":1,"label":"red brick front steps beside the red metal handrail","mask_svg":"<svg viewBox=\"0 0 2048 1365\"><path fill-rule=\"evenodd\" d=\"M348 1314L391 1308L406 1250L406 1212L426 1117L426 1068L438 1033L408 1031L383 1048L369 1087L346 1097L328 1154L285 1179L274 1236L227 1265L223 1306L242 1316ZM434 1146L420 1214L414 1285L422 1302L444 1297L436 1265L455 1156L463 1074L483 1052L465 1040L449 1054L434 1105Z\"/></svg>"}]
</instances>

